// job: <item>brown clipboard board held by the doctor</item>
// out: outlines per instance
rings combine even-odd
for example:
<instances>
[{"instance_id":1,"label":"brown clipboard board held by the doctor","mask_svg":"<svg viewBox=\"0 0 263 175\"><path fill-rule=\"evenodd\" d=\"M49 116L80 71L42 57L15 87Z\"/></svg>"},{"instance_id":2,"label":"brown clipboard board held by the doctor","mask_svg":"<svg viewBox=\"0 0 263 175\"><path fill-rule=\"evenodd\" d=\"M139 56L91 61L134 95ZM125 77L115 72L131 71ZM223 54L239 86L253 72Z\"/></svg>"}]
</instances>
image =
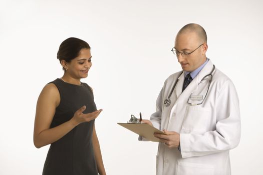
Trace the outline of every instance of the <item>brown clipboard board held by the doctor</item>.
<instances>
[{"instance_id":1,"label":"brown clipboard board held by the doctor","mask_svg":"<svg viewBox=\"0 0 263 175\"><path fill-rule=\"evenodd\" d=\"M148 140L150 141L157 141L159 142L160 139L159 138L156 138L153 133L156 132L156 133L162 133L162 134L165 134L167 135L166 133L164 133L163 131L147 124L147 123L120 123L118 122L117 124L147 138Z\"/></svg>"}]
</instances>

